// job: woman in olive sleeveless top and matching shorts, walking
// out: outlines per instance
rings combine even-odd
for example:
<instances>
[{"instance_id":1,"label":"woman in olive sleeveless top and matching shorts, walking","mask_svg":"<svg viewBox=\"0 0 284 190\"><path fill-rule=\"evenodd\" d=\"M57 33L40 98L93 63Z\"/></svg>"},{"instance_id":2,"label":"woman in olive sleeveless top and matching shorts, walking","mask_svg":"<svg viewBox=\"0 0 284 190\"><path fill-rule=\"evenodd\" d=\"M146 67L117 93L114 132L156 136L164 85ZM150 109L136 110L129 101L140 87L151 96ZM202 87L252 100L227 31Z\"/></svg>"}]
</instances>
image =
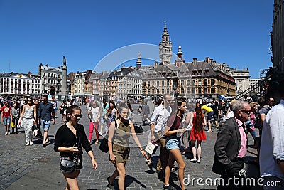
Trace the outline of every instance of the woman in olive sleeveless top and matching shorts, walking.
<instances>
[{"instance_id":1,"label":"woman in olive sleeveless top and matching shorts, walking","mask_svg":"<svg viewBox=\"0 0 284 190\"><path fill-rule=\"evenodd\" d=\"M110 103L111 104L111 103ZM109 159L116 168L114 173L107 178L107 186L111 189L114 188L114 179L119 176L119 189L124 190L124 181L126 176L125 164L129 158L129 138L132 135L137 147L140 149L141 154L146 157L146 152L136 136L133 122L128 120L129 107L126 104L119 104L118 108L119 119L111 122L109 127Z\"/></svg>"}]
</instances>

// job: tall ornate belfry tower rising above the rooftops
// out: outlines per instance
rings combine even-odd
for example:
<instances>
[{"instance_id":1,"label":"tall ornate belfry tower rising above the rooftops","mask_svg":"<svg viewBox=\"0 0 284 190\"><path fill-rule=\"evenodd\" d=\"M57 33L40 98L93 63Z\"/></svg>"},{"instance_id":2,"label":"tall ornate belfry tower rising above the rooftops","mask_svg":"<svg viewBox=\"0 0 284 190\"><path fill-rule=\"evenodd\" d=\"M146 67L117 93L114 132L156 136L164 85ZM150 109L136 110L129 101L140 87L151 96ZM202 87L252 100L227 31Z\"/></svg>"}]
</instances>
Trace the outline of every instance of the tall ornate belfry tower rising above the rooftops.
<instances>
[{"instance_id":1,"label":"tall ornate belfry tower rising above the rooftops","mask_svg":"<svg viewBox=\"0 0 284 190\"><path fill-rule=\"evenodd\" d=\"M170 64L172 58L172 41L170 41L167 25L165 23L164 31L162 33L162 41L159 43L159 57L160 64Z\"/></svg>"}]
</instances>

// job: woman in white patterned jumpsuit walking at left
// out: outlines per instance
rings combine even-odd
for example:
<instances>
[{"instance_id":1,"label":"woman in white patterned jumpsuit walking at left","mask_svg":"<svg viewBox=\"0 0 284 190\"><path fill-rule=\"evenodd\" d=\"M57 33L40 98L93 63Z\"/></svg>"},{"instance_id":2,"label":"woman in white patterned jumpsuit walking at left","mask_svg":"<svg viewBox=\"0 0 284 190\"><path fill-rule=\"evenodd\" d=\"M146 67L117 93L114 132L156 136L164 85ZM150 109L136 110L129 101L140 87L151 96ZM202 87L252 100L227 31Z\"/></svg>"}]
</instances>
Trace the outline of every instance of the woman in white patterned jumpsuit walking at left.
<instances>
[{"instance_id":1,"label":"woman in white patterned jumpsuit walking at left","mask_svg":"<svg viewBox=\"0 0 284 190\"><path fill-rule=\"evenodd\" d=\"M33 97L28 97L28 103L23 106L23 111L21 112L20 120L18 123L21 125L21 121L23 120L23 128L26 134L26 146L33 145L33 125L36 124L36 107L33 102Z\"/></svg>"}]
</instances>

